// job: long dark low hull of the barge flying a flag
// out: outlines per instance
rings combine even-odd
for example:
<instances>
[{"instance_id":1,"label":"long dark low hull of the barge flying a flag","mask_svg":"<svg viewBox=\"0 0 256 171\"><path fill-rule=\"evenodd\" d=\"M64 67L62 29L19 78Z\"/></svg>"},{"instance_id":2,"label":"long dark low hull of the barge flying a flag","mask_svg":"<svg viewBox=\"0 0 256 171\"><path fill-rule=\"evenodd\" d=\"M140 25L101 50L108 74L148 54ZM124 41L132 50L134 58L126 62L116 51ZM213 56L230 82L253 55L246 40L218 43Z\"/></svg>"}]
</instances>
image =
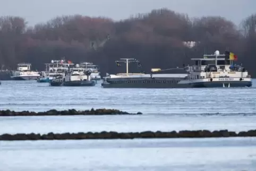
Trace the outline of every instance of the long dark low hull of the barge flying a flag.
<instances>
[{"instance_id":1,"label":"long dark low hull of the barge flying a flag","mask_svg":"<svg viewBox=\"0 0 256 171\"><path fill-rule=\"evenodd\" d=\"M101 83L103 88L218 88L218 87L251 87L251 79L233 80L233 81L217 81L217 80L148 80L148 81L120 81L108 83L104 81Z\"/></svg>"}]
</instances>

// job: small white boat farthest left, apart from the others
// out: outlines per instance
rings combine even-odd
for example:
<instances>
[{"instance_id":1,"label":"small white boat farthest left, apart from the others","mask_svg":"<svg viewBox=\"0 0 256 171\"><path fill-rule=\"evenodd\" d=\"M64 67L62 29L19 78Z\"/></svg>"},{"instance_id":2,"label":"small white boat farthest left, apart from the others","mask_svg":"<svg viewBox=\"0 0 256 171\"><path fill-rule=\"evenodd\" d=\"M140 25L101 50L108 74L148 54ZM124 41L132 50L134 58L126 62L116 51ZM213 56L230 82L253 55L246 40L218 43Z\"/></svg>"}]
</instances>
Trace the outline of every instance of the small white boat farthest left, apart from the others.
<instances>
[{"instance_id":1,"label":"small white boat farthest left, apart from the others","mask_svg":"<svg viewBox=\"0 0 256 171\"><path fill-rule=\"evenodd\" d=\"M20 63L17 66L17 71L12 72L13 80L37 80L40 74L37 71L31 71L30 63Z\"/></svg>"}]
</instances>

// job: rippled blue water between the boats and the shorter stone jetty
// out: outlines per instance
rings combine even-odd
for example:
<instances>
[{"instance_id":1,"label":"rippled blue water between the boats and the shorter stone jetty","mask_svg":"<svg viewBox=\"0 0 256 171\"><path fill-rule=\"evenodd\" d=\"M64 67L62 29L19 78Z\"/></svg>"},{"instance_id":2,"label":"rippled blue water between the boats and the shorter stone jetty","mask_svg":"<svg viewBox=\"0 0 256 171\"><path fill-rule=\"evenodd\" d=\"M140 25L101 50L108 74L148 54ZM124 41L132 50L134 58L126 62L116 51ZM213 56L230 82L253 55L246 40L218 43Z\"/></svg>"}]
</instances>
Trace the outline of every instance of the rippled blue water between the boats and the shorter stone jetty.
<instances>
[{"instance_id":1,"label":"rippled blue water between the boats and the shorter stone jetty","mask_svg":"<svg viewBox=\"0 0 256 171\"><path fill-rule=\"evenodd\" d=\"M256 80L253 81L256 86ZM256 113L256 87L194 89L103 89L49 87L36 81L2 81L0 108L49 109L115 108L144 114Z\"/></svg>"}]
</instances>

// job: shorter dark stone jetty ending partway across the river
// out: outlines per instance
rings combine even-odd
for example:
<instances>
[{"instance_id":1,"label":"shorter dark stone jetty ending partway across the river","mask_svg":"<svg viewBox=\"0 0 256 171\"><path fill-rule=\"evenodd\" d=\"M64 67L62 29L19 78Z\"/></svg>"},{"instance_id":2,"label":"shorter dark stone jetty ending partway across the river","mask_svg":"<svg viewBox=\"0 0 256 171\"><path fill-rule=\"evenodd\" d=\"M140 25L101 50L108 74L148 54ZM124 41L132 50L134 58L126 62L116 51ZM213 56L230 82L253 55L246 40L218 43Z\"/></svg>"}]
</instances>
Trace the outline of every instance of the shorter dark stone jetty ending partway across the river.
<instances>
[{"instance_id":1,"label":"shorter dark stone jetty ending partway across the river","mask_svg":"<svg viewBox=\"0 0 256 171\"><path fill-rule=\"evenodd\" d=\"M91 109L91 110L48 110L46 112L14 112L11 110L0 110L0 116L68 116L68 115L141 115L141 112L138 113L128 113L116 109Z\"/></svg>"}]
</instances>

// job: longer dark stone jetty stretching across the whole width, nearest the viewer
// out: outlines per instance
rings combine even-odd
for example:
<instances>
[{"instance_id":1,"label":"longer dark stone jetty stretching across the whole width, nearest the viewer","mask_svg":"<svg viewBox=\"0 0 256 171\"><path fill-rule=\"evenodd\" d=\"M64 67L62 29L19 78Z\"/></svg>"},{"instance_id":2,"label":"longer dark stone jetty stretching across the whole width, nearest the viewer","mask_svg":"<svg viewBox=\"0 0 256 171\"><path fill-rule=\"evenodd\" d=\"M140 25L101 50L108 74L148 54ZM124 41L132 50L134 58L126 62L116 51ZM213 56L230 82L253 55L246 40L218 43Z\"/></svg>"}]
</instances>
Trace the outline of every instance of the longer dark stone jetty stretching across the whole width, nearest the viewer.
<instances>
[{"instance_id":1,"label":"longer dark stone jetty stretching across the whole width, nearest the viewer","mask_svg":"<svg viewBox=\"0 0 256 171\"><path fill-rule=\"evenodd\" d=\"M228 130L219 131L171 131L171 132L79 132L79 133L53 133L48 134L2 134L0 140L83 140L83 139L142 139L142 138L221 138L221 137L245 137L245 136L256 136L256 130L233 132Z\"/></svg>"}]
</instances>

